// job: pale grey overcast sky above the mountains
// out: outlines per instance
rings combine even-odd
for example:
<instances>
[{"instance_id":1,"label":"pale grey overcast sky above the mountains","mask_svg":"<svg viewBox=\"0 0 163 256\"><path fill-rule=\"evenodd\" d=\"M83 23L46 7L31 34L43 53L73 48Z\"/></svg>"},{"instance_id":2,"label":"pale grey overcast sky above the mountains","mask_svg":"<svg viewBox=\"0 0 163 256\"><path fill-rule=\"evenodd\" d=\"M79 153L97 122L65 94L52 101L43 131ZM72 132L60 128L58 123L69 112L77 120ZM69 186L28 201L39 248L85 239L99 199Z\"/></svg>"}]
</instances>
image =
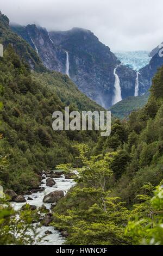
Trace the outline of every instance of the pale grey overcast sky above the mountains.
<instances>
[{"instance_id":1,"label":"pale grey overcast sky above the mountains","mask_svg":"<svg viewBox=\"0 0 163 256\"><path fill-rule=\"evenodd\" d=\"M90 29L114 52L152 50L163 41L162 0L2 0L0 10L49 31Z\"/></svg>"}]
</instances>

